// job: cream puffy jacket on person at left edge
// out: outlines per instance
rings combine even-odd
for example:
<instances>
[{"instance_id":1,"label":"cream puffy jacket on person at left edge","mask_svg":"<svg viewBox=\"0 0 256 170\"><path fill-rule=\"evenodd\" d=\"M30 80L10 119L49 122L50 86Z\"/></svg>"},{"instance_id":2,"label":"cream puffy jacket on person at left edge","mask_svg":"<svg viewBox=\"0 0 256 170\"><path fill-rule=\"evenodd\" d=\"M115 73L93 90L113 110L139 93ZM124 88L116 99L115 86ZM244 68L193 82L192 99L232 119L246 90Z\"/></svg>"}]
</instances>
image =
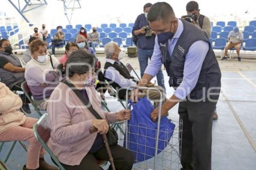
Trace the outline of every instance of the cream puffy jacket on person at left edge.
<instances>
[{"instance_id":1,"label":"cream puffy jacket on person at left edge","mask_svg":"<svg viewBox=\"0 0 256 170\"><path fill-rule=\"evenodd\" d=\"M21 106L20 97L0 82L0 134L25 122L26 116L18 110Z\"/></svg>"}]
</instances>

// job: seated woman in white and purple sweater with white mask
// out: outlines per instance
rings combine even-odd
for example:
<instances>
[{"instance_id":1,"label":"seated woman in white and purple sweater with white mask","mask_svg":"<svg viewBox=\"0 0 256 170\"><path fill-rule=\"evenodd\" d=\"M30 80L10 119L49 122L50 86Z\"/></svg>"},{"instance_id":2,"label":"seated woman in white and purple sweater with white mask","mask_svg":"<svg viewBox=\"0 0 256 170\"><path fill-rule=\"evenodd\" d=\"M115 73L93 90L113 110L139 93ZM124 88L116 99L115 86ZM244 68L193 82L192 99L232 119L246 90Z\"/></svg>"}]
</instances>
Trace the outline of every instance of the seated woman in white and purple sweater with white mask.
<instances>
[{"instance_id":1,"label":"seated woman in white and purple sweater with white mask","mask_svg":"<svg viewBox=\"0 0 256 170\"><path fill-rule=\"evenodd\" d=\"M56 69L59 61L48 55L45 41L32 41L30 51L32 59L26 64L25 79L34 103L40 110L46 110L48 98L61 81L61 73Z\"/></svg>"}]
</instances>

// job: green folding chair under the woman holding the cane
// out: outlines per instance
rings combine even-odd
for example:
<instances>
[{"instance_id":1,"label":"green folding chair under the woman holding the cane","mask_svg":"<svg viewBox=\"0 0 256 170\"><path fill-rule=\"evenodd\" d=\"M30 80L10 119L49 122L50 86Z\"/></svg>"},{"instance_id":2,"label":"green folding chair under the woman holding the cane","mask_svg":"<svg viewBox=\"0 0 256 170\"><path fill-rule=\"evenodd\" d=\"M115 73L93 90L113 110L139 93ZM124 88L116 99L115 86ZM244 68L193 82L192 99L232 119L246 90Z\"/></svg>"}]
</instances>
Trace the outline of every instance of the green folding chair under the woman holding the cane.
<instances>
[{"instance_id":1,"label":"green folding chair under the woman holding the cane","mask_svg":"<svg viewBox=\"0 0 256 170\"><path fill-rule=\"evenodd\" d=\"M43 114L40 119L36 122L33 127L34 134L42 147L46 150L47 153L52 157L54 162L58 165L60 170L65 170L65 168L61 165L58 158L52 153L50 148L47 146L47 142L51 137L51 128L50 128L50 119L48 113ZM108 161L98 161L99 166L104 166Z\"/></svg>"}]
</instances>

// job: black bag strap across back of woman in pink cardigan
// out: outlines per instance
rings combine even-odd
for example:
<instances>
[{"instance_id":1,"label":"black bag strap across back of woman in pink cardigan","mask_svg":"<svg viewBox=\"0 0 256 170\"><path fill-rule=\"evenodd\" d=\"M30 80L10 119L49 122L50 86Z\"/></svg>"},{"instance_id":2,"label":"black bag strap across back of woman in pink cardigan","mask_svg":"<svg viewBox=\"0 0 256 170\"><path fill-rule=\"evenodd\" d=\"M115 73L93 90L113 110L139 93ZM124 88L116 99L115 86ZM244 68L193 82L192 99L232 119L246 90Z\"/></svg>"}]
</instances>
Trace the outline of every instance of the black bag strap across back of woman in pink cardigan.
<instances>
[{"instance_id":1,"label":"black bag strap across back of woman in pink cardigan","mask_svg":"<svg viewBox=\"0 0 256 170\"><path fill-rule=\"evenodd\" d=\"M90 101L87 101L72 83L67 82L67 80L64 80L62 83L65 83L68 87L70 87L85 106L89 106L89 111L96 117L96 119L102 119L101 116L94 110Z\"/></svg>"}]
</instances>

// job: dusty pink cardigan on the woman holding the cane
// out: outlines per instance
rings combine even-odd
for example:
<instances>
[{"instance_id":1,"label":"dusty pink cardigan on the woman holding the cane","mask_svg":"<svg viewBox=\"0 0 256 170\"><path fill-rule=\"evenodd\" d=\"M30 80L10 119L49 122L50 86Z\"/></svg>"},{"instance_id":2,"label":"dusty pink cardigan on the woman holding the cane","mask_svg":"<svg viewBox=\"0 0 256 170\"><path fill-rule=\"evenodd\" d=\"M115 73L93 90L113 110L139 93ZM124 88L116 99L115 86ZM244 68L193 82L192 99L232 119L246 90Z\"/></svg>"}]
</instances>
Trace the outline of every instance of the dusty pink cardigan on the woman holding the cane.
<instances>
[{"instance_id":1,"label":"dusty pink cardigan on the woman holding the cane","mask_svg":"<svg viewBox=\"0 0 256 170\"><path fill-rule=\"evenodd\" d=\"M92 107L98 114L113 123L116 113L101 110L101 100L94 87L86 87ZM64 83L60 83L49 100L48 114L51 123L49 147L60 162L79 165L89 152L97 133L90 134L95 117L76 94Z\"/></svg>"}]
</instances>

